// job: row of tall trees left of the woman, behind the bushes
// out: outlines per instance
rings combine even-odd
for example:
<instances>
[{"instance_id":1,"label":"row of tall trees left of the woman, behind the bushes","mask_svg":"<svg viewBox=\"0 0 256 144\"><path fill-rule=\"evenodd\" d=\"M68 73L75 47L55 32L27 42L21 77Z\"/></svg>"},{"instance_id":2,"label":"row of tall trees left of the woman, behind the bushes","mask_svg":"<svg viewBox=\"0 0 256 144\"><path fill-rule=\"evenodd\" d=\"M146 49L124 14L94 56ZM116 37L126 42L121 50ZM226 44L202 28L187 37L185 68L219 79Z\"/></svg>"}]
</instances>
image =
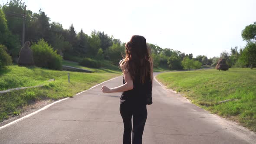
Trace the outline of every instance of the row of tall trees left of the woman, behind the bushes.
<instances>
[{"instance_id":1,"label":"row of tall trees left of the woman, behind the bushes","mask_svg":"<svg viewBox=\"0 0 256 144\"><path fill-rule=\"evenodd\" d=\"M76 33L73 24L69 29L64 29L60 23L51 22L42 10L33 13L25 7L22 0L10 0L0 6L0 43L7 46L8 53L13 59L19 56L22 45L23 18L20 15L24 11L25 41L36 43L44 39L58 54L64 56L64 59L91 57L116 62L117 59L121 59L121 55L113 55L125 51L124 44L119 39L114 39L104 32L94 30L88 36L81 29Z\"/></svg>"}]
</instances>

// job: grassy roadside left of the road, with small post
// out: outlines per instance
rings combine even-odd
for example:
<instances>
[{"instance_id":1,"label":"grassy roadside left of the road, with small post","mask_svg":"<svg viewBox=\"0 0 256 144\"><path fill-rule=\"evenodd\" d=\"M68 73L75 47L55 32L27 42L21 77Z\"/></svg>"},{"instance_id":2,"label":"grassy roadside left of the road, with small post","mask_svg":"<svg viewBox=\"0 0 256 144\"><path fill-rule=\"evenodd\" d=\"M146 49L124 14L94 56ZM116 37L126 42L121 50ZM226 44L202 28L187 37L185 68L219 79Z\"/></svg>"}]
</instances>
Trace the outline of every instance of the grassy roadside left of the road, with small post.
<instances>
[{"instance_id":1,"label":"grassy roadside left of the road, with small post","mask_svg":"<svg viewBox=\"0 0 256 144\"><path fill-rule=\"evenodd\" d=\"M59 99L72 97L78 92L89 89L93 85L121 75L117 70L94 73L54 71L38 67L9 66L0 73L0 90L8 88L44 85L41 88L29 88L0 94L0 121L19 115L27 105L43 99ZM55 79L55 82L48 82Z\"/></svg>"}]
</instances>

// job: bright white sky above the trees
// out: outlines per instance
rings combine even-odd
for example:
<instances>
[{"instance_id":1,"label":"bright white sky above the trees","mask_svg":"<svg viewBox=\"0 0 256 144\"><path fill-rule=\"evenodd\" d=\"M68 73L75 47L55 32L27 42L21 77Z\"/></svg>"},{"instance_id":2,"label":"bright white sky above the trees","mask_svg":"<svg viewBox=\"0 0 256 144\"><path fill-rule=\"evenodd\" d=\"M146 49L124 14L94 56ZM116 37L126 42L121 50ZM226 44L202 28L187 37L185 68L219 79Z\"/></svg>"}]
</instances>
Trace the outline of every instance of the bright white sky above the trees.
<instances>
[{"instance_id":1,"label":"bright white sky above the trees","mask_svg":"<svg viewBox=\"0 0 256 144\"><path fill-rule=\"evenodd\" d=\"M6 3L7 0L0 0ZM65 29L73 23L90 35L93 29L128 42L142 35L162 48L219 56L243 48L245 26L256 21L256 0L23 0L41 8Z\"/></svg>"}]
</instances>

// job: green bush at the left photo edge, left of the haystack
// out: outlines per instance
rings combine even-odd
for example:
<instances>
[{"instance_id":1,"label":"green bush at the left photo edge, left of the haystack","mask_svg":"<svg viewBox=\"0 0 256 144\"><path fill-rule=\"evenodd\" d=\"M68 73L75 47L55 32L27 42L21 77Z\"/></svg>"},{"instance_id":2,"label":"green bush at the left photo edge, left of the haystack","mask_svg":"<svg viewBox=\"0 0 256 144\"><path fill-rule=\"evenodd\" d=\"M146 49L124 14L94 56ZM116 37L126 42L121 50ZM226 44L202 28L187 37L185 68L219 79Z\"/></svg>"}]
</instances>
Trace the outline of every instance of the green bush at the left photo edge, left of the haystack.
<instances>
[{"instance_id":1,"label":"green bush at the left photo edge, left of the haystack","mask_svg":"<svg viewBox=\"0 0 256 144\"><path fill-rule=\"evenodd\" d=\"M0 45L0 69L3 69L5 66L12 64L11 56L6 52L7 48L3 45Z\"/></svg>"}]
</instances>

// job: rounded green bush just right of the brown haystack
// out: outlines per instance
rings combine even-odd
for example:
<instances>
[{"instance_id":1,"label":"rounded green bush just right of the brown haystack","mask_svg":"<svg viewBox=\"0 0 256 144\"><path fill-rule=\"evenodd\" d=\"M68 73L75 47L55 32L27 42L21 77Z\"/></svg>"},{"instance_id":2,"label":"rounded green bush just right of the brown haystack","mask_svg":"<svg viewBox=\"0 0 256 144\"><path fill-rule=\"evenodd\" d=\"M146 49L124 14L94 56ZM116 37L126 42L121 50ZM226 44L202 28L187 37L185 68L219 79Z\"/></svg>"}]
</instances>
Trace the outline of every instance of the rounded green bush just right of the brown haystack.
<instances>
[{"instance_id":1,"label":"rounded green bush just right of the brown haystack","mask_svg":"<svg viewBox=\"0 0 256 144\"><path fill-rule=\"evenodd\" d=\"M62 57L57 54L57 51L53 50L52 46L49 46L43 39L40 39L38 43L31 46L33 50L33 59L36 66L62 70Z\"/></svg>"}]
</instances>

